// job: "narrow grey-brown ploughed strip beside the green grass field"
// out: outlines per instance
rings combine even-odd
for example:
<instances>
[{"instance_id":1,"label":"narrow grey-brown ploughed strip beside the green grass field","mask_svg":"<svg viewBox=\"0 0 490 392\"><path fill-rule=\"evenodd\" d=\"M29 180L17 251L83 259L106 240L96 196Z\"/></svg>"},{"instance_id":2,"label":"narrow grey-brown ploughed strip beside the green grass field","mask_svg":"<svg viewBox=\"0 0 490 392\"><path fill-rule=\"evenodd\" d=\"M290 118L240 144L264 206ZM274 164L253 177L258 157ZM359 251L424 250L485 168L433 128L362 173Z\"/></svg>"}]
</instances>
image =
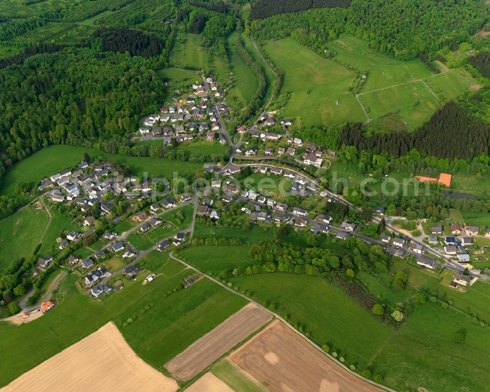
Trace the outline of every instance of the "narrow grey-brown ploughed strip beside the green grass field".
<instances>
[{"instance_id":1,"label":"narrow grey-brown ploughed strip beside the green grass field","mask_svg":"<svg viewBox=\"0 0 490 392\"><path fill-rule=\"evenodd\" d=\"M248 304L172 358L165 367L179 380L190 380L270 319L269 313Z\"/></svg>"}]
</instances>

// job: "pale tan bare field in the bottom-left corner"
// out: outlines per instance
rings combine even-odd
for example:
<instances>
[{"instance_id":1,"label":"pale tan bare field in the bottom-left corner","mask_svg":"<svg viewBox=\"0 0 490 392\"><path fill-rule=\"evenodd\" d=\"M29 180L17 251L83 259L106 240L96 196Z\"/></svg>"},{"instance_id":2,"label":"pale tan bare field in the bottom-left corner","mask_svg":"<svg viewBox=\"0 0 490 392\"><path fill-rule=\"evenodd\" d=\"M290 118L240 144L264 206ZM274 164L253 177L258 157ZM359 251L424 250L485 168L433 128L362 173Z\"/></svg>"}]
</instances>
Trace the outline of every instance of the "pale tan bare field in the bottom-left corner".
<instances>
[{"instance_id":1,"label":"pale tan bare field in the bottom-left corner","mask_svg":"<svg viewBox=\"0 0 490 392\"><path fill-rule=\"evenodd\" d=\"M94 385L99 391L175 392L179 389L175 380L139 358L110 322L1 391L91 391Z\"/></svg>"}]
</instances>

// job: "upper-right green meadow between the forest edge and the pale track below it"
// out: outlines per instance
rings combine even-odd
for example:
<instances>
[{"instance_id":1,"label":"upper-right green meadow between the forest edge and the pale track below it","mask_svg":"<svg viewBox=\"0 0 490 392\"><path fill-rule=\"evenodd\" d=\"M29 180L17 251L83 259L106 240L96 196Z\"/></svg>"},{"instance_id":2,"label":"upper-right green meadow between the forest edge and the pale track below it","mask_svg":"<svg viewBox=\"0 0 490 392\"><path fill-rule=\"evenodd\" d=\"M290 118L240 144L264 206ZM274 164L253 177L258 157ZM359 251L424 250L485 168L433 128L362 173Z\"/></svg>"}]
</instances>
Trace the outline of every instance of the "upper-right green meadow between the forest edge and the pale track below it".
<instances>
[{"instance_id":1,"label":"upper-right green meadow between the forest edge and the pale track below it","mask_svg":"<svg viewBox=\"0 0 490 392\"><path fill-rule=\"evenodd\" d=\"M363 92L434 75L418 59L394 59L369 49L366 41L350 34L342 34L339 39L329 42L328 49L335 52L336 60L351 65L360 72L368 72Z\"/></svg>"}]
</instances>

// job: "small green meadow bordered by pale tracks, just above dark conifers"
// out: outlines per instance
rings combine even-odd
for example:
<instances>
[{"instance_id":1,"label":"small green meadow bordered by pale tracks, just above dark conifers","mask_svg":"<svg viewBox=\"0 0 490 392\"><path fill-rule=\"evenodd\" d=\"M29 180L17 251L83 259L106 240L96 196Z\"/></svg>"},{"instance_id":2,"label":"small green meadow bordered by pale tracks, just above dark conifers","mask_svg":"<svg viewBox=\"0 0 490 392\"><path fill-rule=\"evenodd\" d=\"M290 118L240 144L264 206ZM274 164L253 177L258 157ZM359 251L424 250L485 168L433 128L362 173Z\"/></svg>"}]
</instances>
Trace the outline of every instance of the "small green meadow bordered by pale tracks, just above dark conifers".
<instances>
[{"instance_id":1,"label":"small green meadow bordered by pale tracks, just above dark conifers","mask_svg":"<svg viewBox=\"0 0 490 392\"><path fill-rule=\"evenodd\" d=\"M441 107L420 81L362 93L359 98L366 107L369 118L399 110L399 115L411 130L418 128Z\"/></svg>"}]
</instances>

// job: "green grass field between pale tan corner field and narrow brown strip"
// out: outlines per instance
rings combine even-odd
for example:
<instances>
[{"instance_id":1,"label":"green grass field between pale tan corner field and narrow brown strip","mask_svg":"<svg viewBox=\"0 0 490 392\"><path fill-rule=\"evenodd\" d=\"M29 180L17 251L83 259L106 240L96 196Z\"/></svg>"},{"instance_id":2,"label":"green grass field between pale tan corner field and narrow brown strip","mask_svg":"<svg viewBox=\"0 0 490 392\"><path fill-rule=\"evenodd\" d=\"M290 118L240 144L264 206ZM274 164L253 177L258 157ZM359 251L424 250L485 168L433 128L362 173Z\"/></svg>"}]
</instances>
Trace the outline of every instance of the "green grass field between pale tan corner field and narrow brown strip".
<instances>
[{"instance_id":1,"label":"green grass field between pale tan corner field and narrow brown strip","mask_svg":"<svg viewBox=\"0 0 490 392\"><path fill-rule=\"evenodd\" d=\"M143 303L129 306L116 319L116 325L136 354L158 370L184 351L190 342L211 331L247 303L207 279L177 291L163 301L161 295L159 289L152 290L145 295ZM142 307L151 303L153 306L142 314ZM133 321L124 327L127 318L133 318Z\"/></svg>"}]
</instances>

